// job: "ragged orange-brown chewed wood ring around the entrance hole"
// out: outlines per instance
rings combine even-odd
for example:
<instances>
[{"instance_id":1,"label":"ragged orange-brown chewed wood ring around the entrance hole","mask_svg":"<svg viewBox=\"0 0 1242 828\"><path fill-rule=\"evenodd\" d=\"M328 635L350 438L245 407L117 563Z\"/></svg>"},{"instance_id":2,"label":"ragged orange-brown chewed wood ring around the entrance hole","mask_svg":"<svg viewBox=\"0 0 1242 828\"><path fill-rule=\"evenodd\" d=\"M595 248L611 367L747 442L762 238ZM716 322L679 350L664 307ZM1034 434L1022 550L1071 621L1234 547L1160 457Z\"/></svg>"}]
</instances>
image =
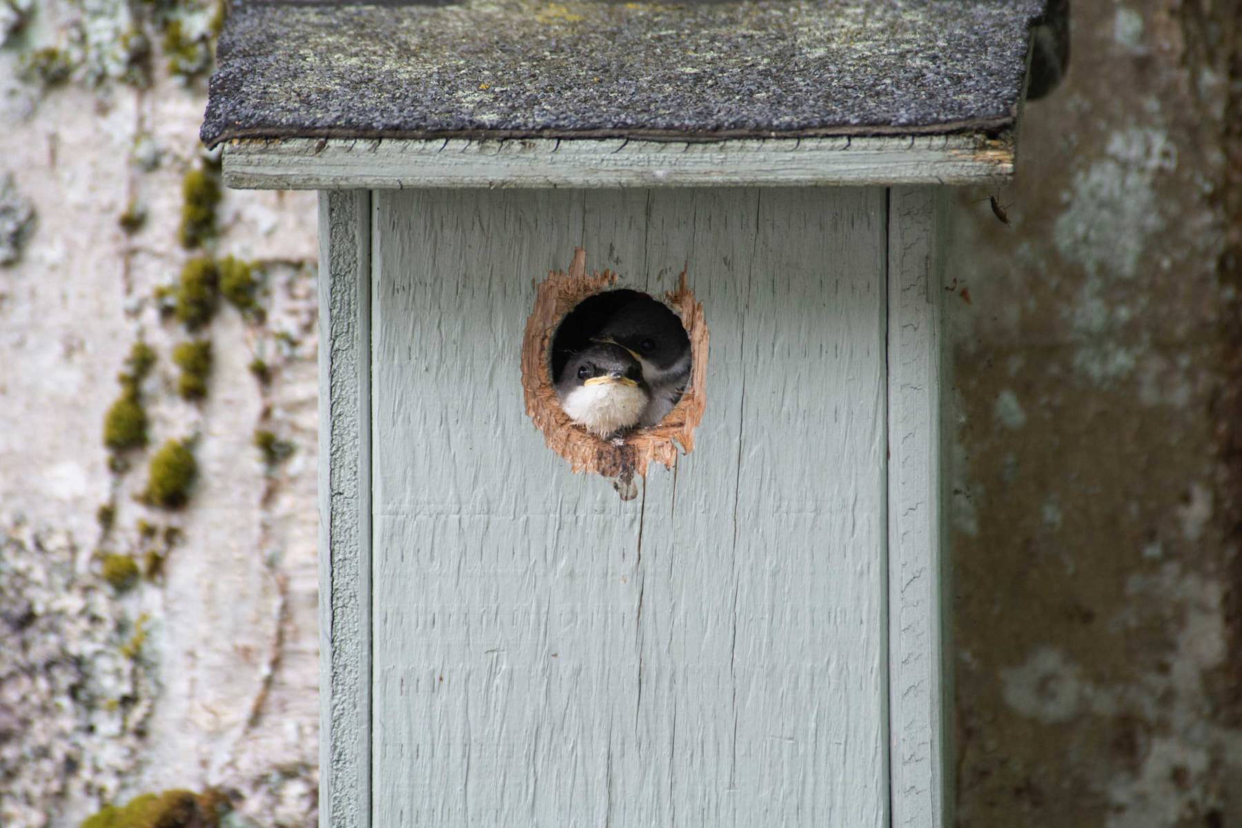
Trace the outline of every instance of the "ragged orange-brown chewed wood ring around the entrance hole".
<instances>
[{"instance_id":1,"label":"ragged orange-brown chewed wood ring around the entrance hole","mask_svg":"<svg viewBox=\"0 0 1242 828\"><path fill-rule=\"evenodd\" d=\"M686 271L664 303L677 314L691 341L691 379L673 410L648 428L631 431L620 441L605 441L575 425L560 407L553 381L553 341L561 322L585 299L611 290L617 274L586 272L586 251L574 250L569 272L553 271L535 286L535 305L522 341L522 387L527 415L544 434L548 448L576 472L615 478L622 497L635 475L645 477L652 462L672 468L678 453L694 449L694 430L707 405L708 330L703 305L686 287Z\"/></svg>"}]
</instances>

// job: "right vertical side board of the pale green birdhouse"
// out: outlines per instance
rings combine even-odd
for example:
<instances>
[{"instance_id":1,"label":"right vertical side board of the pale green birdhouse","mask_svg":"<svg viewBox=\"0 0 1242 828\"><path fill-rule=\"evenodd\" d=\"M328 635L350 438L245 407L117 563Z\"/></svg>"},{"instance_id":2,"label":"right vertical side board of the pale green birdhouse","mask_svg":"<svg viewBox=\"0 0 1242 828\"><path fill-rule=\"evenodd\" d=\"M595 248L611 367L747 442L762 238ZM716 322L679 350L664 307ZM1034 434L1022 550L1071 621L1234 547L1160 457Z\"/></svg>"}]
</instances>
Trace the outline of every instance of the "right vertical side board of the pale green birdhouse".
<instances>
[{"instance_id":1,"label":"right vertical side board of the pale green birdhouse","mask_svg":"<svg viewBox=\"0 0 1242 828\"><path fill-rule=\"evenodd\" d=\"M893 826L951 826L944 675L940 294L943 192L889 196L888 566Z\"/></svg>"}]
</instances>

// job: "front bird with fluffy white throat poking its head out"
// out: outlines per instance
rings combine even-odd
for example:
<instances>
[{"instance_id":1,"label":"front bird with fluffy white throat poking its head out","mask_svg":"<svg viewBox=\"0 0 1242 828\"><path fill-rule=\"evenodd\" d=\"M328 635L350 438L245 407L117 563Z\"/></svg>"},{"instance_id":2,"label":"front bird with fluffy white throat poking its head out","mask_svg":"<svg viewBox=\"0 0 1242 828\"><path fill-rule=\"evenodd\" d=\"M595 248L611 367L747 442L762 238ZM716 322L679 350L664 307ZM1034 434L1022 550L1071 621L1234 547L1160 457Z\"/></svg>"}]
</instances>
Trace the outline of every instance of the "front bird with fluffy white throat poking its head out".
<instances>
[{"instance_id":1,"label":"front bird with fluffy white throat poking its head out","mask_svg":"<svg viewBox=\"0 0 1242 828\"><path fill-rule=\"evenodd\" d=\"M609 343L592 343L570 356L556 380L556 396L569 418L600 439L637 425L651 401L638 360Z\"/></svg>"}]
</instances>

